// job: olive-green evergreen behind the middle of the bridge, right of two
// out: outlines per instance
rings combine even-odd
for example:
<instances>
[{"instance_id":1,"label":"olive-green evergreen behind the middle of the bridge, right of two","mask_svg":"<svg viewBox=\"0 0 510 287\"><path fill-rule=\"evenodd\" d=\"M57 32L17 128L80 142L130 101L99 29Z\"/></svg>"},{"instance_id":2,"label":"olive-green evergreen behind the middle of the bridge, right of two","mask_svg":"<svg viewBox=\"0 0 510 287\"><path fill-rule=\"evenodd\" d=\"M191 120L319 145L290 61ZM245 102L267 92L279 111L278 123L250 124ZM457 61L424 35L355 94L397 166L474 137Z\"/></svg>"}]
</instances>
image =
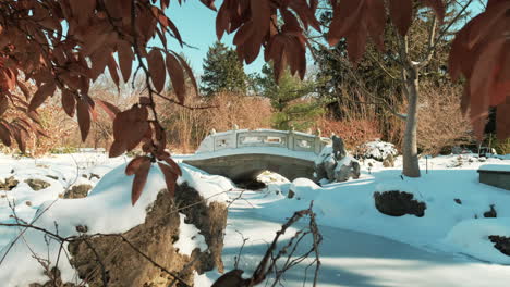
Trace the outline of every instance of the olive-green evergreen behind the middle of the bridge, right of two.
<instances>
[{"instance_id":1,"label":"olive-green evergreen behind the middle of the bridge, right of two","mask_svg":"<svg viewBox=\"0 0 510 287\"><path fill-rule=\"evenodd\" d=\"M254 91L270 99L275 111L272 127L282 130L305 130L312 127L323 113L321 104L311 96L315 83L302 82L286 70L277 84L269 64L263 66L262 73L262 76L253 76Z\"/></svg>"}]
</instances>

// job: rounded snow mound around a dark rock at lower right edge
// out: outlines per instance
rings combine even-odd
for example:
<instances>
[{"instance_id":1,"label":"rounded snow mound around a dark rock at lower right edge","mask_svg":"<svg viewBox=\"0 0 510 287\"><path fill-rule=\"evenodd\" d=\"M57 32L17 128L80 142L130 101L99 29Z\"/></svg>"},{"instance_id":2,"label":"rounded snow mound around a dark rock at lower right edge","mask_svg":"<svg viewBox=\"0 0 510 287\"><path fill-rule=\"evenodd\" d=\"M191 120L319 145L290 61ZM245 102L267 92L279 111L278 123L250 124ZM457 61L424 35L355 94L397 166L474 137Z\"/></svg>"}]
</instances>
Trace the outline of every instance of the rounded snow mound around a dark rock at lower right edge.
<instances>
[{"instance_id":1,"label":"rounded snow mound around a dark rock at lower right edge","mask_svg":"<svg viewBox=\"0 0 510 287\"><path fill-rule=\"evenodd\" d=\"M453 226L445 244L484 261L510 264L510 257L494 247L488 238L490 235L510 237L510 217L462 221Z\"/></svg>"}]
</instances>

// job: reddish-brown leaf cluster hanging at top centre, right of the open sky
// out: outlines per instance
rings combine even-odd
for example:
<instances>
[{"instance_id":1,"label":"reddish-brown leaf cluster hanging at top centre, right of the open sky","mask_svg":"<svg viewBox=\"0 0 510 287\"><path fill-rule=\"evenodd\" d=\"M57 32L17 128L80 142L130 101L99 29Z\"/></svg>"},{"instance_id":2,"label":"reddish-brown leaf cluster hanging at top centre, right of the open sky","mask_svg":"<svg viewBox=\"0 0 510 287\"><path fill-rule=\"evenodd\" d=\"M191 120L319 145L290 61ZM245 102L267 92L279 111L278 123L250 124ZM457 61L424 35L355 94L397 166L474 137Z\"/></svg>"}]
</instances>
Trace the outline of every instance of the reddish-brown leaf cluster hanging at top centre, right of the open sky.
<instances>
[{"instance_id":1,"label":"reddish-brown leaf cluster hanging at top centre, right of the open sky","mask_svg":"<svg viewBox=\"0 0 510 287\"><path fill-rule=\"evenodd\" d=\"M224 0L216 17L216 34L235 32L233 43L238 55L252 63L265 47L264 59L272 61L279 78L284 66L301 78L306 72L306 38L304 30L312 26L320 30L315 17L318 0ZM278 13L283 23L278 23Z\"/></svg>"}]
</instances>

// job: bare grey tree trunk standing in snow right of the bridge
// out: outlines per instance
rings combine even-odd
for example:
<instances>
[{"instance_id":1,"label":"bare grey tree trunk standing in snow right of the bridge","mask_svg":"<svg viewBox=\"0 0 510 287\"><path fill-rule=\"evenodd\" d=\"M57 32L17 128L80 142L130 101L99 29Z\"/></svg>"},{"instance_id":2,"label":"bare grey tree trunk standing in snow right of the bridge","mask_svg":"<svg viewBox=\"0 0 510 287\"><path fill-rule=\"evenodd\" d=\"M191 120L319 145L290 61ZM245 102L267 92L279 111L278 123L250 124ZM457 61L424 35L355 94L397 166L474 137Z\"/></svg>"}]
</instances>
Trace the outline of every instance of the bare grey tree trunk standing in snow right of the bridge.
<instances>
[{"instance_id":1,"label":"bare grey tree trunk standing in snow right of the bridge","mask_svg":"<svg viewBox=\"0 0 510 287\"><path fill-rule=\"evenodd\" d=\"M402 173L409 177L420 177L420 165L417 159L417 103L418 103L418 71L417 67L409 70L410 75L405 82L408 89L408 117L405 120L405 132L403 139L403 170Z\"/></svg>"}]
</instances>

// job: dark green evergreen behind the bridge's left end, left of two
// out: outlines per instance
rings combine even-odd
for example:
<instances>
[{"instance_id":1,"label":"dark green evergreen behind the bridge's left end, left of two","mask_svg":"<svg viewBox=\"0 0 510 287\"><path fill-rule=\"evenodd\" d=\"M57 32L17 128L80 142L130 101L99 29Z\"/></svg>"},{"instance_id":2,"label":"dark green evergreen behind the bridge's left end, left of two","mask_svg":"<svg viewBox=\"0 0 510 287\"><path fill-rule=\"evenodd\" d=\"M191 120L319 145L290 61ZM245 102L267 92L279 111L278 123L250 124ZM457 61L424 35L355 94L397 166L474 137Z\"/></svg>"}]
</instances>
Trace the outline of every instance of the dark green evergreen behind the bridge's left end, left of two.
<instances>
[{"instance_id":1,"label":"dark green evergreen behind the bridge's left end, left of two","mask_svg":"<svg viewBox=\"0 0 510 287\"><path fill-rule=\"evenodd\" d=\"M204 61L202 91L207 96L220 91L246 92L246 74L234 50L216 41Z\"/></svg>"}]
</instances>

